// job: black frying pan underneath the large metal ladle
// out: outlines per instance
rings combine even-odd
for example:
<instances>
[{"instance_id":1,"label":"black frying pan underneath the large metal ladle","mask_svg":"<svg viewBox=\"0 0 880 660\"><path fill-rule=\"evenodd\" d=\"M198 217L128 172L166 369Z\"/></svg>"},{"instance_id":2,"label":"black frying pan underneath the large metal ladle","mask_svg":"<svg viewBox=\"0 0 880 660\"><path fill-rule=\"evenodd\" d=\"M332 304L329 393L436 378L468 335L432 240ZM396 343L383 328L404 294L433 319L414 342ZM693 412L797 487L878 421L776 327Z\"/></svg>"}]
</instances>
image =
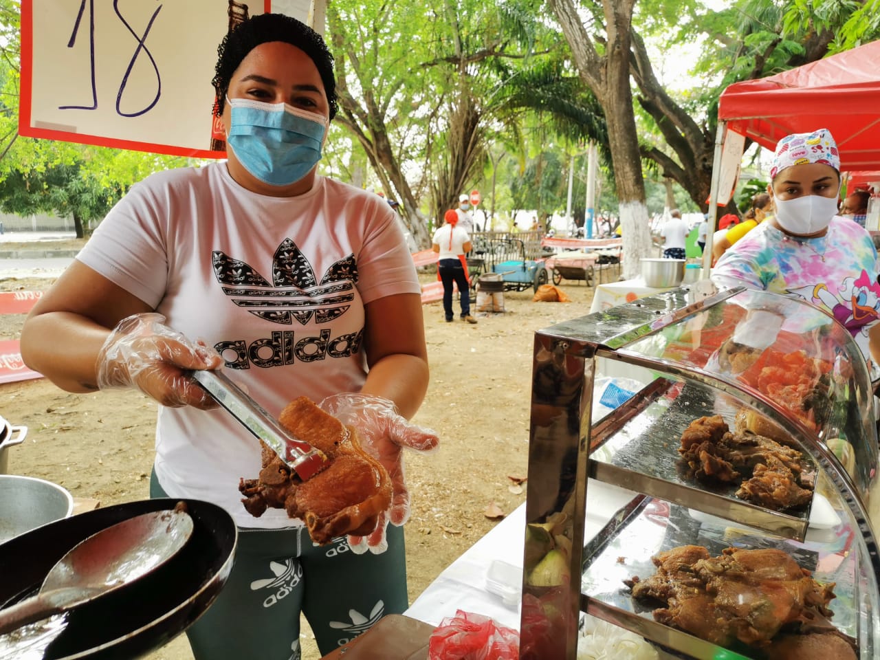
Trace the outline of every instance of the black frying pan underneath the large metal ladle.
<instances>
[{"instance_id":1,"label":"black frying pan underneath the large metal ladle","mask_svg":"<svg viewBox=\"0 0 880 660\"><path fill-rule=\"evenodd\" d=\"M0 607L39 590L55 561L79 541L129 517L173 509L177 502L142 500L88 511L0 545ZM184 502L194 530L180 553L142 580L51 620L60 633L50 635L44 660L143 656L202 616L229 577L238 532L231 516L216 504ZM14 635L23 631L0 636L0 658L19 656Z\"/></svg>"}]
</instances>

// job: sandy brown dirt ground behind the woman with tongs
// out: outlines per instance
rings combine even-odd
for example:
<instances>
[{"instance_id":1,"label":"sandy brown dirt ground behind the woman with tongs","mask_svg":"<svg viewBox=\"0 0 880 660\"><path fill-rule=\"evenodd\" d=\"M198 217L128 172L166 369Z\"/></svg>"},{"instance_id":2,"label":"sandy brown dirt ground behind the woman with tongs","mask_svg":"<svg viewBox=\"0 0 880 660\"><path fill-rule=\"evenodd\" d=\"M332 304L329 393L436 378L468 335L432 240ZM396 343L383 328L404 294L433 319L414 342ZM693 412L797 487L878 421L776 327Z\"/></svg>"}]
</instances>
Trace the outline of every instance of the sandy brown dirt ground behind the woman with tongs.
<instances>
[{"instance_id":1,"label":"sandy brown dirt ground behind the woman with tongs","mask_svg":"<svg viewBox=\"0 0 880 660\"><path fill-rule=\"evenodd\" d=\"M44 290L52 281L0 279L0 290ZM446 323L439 302L424 306L431 381L414 422L436 429L442 447L429 457L408 457L411 602L498 523L485 515L488 506L507 514L524 502L524 485L511 477L526 475L533 333L589 313L592 301L583 282L563 280L561 289L571 303L534 303L531 289L507 291L505 312L478 313L476 325ZM24 315L0 316L0 339L18 338L23 321ZM139 392L70 394L41 378L0 385L0 415L28 427L25 443L9 450L9 471L55 481L101 505L144 499L156 408ZM304 660L319 657L310 636L304 628ZM180 635L148 657L192 655Z\"/></svg>"}]
</instances>

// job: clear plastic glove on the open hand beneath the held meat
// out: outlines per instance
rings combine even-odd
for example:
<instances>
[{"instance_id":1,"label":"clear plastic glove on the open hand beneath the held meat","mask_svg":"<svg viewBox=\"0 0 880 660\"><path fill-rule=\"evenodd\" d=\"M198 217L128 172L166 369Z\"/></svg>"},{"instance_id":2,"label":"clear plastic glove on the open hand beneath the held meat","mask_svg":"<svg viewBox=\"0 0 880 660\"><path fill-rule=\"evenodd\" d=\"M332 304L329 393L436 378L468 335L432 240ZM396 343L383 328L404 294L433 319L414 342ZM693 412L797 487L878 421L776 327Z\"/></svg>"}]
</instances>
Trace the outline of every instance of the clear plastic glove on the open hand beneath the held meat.
<instances>
[{"instance_id":1,"label":"clear plastic glove on the open hand beneath the held meat","mask_svg":"<svg viewBox=\"0 0 880 660\"><path fill-rule=\"evenodd\" d=\"M394 402L371 394L334 394L321 401L319 407L343 424L357 429L363 451L385 466L392 482L391 507L379 516L376 531L369 536L349 536L352 552L384 553L388 549L385 528L397 527L409 519L409 491L404 480L403 448L428 453L439 442L436 433L410 424L397 412Z\"/></svg>"}]
</instances>

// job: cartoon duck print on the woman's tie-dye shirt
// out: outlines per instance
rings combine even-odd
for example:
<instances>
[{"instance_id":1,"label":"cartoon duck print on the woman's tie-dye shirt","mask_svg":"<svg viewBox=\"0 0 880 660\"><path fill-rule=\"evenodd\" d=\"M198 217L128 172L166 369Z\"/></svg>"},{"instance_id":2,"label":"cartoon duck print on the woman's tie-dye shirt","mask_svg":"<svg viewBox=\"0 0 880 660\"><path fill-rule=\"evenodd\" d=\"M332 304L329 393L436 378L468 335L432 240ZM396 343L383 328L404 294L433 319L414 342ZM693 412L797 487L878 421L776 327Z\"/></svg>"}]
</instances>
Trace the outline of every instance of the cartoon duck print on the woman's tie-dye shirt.
<instances>
[{"instance_id":1,"label":"cartoon duck print on the woman's tie-dye shirt","mask_svg":"<svg viewBox=\"0 0 880 660\"><path fill-rule=\"evenodd\" d=\"M856 339L859 335L867 339L867 326L880 319L880 285L864 270L858 277L844 278L836 292L825 282L789 291L811 304L824 305Z\"/></svg>"}]
</instances>

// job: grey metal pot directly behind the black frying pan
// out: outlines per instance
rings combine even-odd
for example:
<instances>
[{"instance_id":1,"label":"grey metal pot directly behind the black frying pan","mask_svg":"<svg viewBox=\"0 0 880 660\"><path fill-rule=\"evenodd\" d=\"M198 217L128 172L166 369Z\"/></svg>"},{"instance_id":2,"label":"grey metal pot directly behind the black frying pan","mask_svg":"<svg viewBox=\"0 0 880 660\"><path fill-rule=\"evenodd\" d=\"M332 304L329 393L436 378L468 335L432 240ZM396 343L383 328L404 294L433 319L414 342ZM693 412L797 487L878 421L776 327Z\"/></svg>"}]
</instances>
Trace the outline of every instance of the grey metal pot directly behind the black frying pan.
<instances>
[{"instance_id":1,"label":"grey metal pot directly behind the black frying pan","mask_svg":"<svg viewBox=\"0 0 880 660\"><path fill-rule=\"evenodd\" d=\"M0 543L71 513L73 497L66 488L33 477L0 474Z\"/></svg>"}]
</instances>

